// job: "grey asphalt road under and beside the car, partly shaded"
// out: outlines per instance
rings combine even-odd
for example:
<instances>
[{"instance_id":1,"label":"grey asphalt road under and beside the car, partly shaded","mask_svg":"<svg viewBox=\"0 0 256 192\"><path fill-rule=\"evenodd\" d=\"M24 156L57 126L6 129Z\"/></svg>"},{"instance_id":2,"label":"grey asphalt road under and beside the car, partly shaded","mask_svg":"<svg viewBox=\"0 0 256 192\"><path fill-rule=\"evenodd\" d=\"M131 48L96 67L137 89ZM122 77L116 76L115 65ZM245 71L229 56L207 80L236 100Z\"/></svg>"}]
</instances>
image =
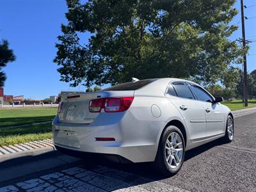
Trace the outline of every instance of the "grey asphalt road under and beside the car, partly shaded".
<instances>
[{"instance_id":1,"label":"grey asphalt road under and beside the car, partly shaded","mask_svg":"<svg viewBox=\"0 0 256 192\"><path fill-rule=\"evenodd\" d=\"M83 161L0 184L0 191L256 191L256 113L235 119L232 143L220 140L186 152L177 175L151 164L88 165Z\"/></svg>"}]
</instances>

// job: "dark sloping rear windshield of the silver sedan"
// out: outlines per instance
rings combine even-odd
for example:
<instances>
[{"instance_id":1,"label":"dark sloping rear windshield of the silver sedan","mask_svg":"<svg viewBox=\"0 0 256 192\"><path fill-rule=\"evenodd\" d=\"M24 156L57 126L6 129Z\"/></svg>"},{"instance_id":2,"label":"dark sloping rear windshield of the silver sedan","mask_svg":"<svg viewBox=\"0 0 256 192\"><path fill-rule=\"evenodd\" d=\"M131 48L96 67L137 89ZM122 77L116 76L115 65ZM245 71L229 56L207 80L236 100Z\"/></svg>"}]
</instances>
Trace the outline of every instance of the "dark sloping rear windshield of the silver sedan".
<instances>
[{"instance_id":1,"label":"dark sloping rear windshield of the silver sedan","mask_svg":"<svg viewBox=\"0 0 256 192\"><path fill-rule=\"evenodd\" d=\"M127 82L127 83L122 83L122 84L116 84L116 85L106 88L102 91L138 90L139 88L142 88L143 86L146 86L147 84L150 84L153 81L156 81L156 79L145 79L145 80L136 81L134 83Z\"/></svg>"}]
</instances>

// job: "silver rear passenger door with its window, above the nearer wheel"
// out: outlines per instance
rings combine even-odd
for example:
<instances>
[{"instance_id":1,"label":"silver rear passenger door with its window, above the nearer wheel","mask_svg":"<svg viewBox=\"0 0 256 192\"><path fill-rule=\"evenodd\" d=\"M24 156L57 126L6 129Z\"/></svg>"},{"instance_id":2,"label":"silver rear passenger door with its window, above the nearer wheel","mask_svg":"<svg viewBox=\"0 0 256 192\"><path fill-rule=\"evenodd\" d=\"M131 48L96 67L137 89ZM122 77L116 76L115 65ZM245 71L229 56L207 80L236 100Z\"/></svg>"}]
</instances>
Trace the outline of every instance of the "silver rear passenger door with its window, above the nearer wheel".
<instances>
[{"instance_id":1,"label":"silver rear passenger door with its window, above the nearer wheel","mask_svg":"<svg viewBox=\"0 0 256 192\"><path fill-rule=\"evenodd\" d=\"M170 102L177 108L188 127L192 141L205 137L205 113L200 101L196 100L184 81L169 84L166 94Z\"/></svg>"}]
</instances>

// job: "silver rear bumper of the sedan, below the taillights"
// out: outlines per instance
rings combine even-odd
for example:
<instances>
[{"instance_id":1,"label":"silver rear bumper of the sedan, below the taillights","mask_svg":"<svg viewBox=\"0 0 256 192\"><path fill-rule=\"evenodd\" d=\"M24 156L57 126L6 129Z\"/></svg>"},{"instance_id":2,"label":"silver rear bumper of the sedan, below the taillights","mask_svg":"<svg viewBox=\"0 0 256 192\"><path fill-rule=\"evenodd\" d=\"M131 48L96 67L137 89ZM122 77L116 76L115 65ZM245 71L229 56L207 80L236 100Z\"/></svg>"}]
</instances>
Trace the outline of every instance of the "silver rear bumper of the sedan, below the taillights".
<instances>
[{"instance_id":1,"label":"silver rear bumper of the sedan, below the taillights","mask_svg":"<svg viewBox=\"0 0 256 192\"><path fill-rule=\"evenodd\" d=\"M58 121L57 115L52 122L54 145L61 150L66 149L71 156L83 156L86 152L110 154L133 163L155 160L165 122L141 122L129 111L117 120L106 115L109 113L100 113L93 124L63 124ZM60 136L60 132L69 131L74 132L71 139L64 134ZM95 138L115 138L115 141L96 141Z\"/></svg>"}]
</instances>

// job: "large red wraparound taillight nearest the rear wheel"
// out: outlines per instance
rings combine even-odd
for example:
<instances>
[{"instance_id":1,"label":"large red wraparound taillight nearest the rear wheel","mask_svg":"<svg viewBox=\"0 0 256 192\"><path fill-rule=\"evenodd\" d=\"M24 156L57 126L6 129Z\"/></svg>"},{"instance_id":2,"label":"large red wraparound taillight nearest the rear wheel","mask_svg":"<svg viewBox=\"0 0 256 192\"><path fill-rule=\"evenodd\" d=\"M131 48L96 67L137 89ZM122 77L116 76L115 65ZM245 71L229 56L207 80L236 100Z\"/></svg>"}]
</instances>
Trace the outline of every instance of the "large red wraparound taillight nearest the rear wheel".
<instances>
[{"instance_id":1,"label":"large red wraparound taillight nearest the rear wheel","mask_svg":"<svg viewBox=\"0 0 256 192\"><path fill-rule=\"evenodd\" d=\"M130 108L134 97L109 97L105 99L90 100L89 111L99 113L104 109L106 113L126 111Z\"/></svg>"}]
</instances>

